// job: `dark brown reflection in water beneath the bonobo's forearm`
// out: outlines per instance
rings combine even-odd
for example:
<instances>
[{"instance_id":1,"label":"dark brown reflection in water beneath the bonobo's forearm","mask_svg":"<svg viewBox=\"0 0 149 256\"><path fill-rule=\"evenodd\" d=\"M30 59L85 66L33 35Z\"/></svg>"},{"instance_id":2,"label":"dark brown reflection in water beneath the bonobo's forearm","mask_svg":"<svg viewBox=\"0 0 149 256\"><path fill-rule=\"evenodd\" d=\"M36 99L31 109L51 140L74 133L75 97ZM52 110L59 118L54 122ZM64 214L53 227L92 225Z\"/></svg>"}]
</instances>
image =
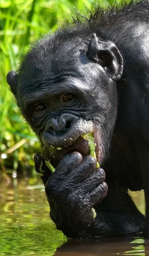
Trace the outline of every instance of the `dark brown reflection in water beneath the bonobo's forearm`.
<instances>
[{"instance_id":1,"label":"dark brown reflection in water beneath the bonobo's forearm","mask_svg":"<svg viewBox=\"0 0 149 256\"><path fill-rule=\"evenodd\" d=\"M62 247L57 248L55 256L117 256L140 255L149 256L145 250L143 239L136 241L132 236L117 238L100 238L89 240L69 240ZM133 244L133 246L132 246ZM149 241L147 241L149 244ZM148 252L148 253L145 253Z\"/></svg>"}]
</instances>

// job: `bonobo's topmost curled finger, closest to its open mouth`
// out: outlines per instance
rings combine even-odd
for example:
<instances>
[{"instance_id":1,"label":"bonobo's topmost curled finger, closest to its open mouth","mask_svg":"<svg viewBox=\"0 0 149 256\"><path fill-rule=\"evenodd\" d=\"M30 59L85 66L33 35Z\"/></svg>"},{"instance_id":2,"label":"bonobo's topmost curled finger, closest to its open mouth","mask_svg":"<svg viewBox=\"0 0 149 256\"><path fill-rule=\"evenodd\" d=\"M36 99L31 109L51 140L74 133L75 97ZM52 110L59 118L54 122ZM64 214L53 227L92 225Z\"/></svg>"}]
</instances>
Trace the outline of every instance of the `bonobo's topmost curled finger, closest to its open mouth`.
<instances>
[{"instance_id":1,"label":"bonobo's topmost curled finger, closest to its open mouth","mask_svg":"<svg viewBox=\"0 0 149 256\"><path fill-rule=\"evenodd\" d=\"M78 166L82 159L83 157L79 152L66 154L55 169L54 175L60 177L68 175Z\"/></svg>"}]
</instances>

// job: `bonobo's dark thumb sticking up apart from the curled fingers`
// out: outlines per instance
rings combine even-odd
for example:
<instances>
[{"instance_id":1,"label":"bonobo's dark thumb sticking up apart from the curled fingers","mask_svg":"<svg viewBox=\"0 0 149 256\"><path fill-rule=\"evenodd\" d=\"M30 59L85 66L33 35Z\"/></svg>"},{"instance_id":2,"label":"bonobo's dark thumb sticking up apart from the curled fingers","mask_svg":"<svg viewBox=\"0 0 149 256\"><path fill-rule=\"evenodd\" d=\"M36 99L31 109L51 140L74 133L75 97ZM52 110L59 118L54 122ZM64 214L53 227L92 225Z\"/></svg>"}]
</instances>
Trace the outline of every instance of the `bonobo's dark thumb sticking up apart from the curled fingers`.
<instances>
[{"instance_id":1,"label":"bonobo's dark thumb sticking up apart from the curled fingers","mask_svg":"<svg viewBox=\"0 0 149 256\"><path fill-rule=\"evenodd\" d=\"M34 155L34 168L35 168L35 171L40 175L41 179L43 180L43 184L45 186L52 172L46 166L46 163L43 157L38 154Z\"/></svg>"}]
</instances>

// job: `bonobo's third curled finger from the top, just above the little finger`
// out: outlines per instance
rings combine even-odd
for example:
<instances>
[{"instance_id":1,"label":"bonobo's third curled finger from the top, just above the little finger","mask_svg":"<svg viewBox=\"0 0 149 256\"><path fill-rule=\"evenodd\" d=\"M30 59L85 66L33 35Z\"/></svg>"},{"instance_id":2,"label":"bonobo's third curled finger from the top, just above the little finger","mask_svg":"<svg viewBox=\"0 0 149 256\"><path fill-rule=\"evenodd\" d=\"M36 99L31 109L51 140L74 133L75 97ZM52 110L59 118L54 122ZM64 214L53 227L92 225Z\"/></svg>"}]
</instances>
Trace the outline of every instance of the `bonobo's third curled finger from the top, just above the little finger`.
<instances>
[{"instance_id":1,"label":"bonobo's third curled finger from the top, just above the little finger","mask_svg":"<svg viewBox=\"0 0 149 256\"><path fill-rule=\"evenodd\" d=\"M97 168L89 177L81 183L85 194L91 192L98 184L105 181L106 174L102 168Z\"/></svg>"}]
</instances>

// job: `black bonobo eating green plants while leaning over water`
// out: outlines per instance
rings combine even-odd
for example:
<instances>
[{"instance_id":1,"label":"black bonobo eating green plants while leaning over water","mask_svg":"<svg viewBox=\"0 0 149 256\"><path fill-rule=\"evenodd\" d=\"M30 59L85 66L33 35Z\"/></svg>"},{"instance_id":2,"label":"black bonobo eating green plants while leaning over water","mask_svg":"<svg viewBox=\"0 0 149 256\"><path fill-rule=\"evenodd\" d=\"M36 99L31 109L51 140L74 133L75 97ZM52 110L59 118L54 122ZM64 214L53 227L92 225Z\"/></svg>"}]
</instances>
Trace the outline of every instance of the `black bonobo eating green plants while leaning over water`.
<instances>
[{"instance_id":1,"label":"black bonobo eating green plants while leaning over water","mask_svg":"<svg viewBox=\"0 0 149 256\"><path fill-rule=\"evenodd\" d=\"M149 236L149 2L97 6L36 42L7 81L40 139L35 169L57 229ZM144 189L146 219L128 189Z\"/></svg>"}]
</instances>

